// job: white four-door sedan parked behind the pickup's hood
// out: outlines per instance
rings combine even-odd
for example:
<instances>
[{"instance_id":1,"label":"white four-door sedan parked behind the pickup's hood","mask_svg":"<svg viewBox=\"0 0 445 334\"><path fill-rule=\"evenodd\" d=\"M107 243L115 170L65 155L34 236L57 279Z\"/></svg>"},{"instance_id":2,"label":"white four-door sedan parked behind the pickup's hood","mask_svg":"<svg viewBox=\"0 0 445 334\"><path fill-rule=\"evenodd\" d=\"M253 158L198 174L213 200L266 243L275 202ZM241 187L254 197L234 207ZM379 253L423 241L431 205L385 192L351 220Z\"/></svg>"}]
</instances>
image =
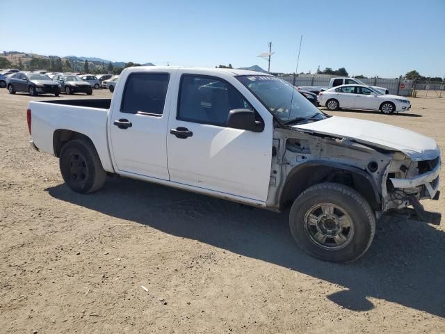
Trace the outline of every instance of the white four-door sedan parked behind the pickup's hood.
<instances>
[{"instance_id":1,"label":"white four-door sedan parked behind the pickup's hood","mask_svg":"<svg viewBox=\"0 0 445 334\"><path fill-rule=\"evenodd\" d=\"M371 86L343 85L318 94L318 102L330 111L340 108L380 110L382 113L398 113L411 108L406 97L382 94Z\"/></svg>"}]
</instances>

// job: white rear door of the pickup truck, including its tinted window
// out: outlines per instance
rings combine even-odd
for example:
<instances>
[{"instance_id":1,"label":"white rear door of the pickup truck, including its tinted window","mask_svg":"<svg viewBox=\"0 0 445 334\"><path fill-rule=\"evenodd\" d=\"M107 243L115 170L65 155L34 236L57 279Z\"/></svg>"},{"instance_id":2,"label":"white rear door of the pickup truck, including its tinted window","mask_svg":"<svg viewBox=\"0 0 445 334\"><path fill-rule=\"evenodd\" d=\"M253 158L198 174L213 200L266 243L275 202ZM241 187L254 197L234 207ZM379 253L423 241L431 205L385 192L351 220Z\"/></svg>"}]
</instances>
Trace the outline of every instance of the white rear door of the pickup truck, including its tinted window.
<instances>
[{"instance_id":1,"label":"white rear door of the pickup truck, including its tinted window","mask_svg":"<svg viewBox=\"0 0 445 334\"><path fill-rule=\"evenodd\" d=\"M113 100L110 142L121 173L169 180L165 138L169 81L169 72L132 72L122 96Z\"/></svg>"}]
</instances>

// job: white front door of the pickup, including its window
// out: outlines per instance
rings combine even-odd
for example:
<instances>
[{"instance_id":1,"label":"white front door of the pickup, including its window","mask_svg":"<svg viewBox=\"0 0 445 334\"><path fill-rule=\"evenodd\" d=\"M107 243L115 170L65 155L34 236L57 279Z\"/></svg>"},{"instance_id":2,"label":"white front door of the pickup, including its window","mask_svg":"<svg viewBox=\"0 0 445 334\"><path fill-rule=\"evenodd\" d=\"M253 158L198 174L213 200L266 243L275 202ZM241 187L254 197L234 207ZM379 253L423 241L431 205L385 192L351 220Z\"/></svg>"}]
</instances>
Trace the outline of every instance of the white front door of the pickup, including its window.
<instances>
[{"instance_id":1,"label":"white front door of the pickup, including its window","mask_svg":"<svg viewBox=\"0 0 445 334\"><path fill-rule=\"evenodd\" d=\"M227 127L230 110L253 110L248 100L224 79L181 73L177 110L172 106L168 124L170 180L221 196L265 202L271 127L262 132ZM262 121L259 114L257 120Z\"/></svg>"}]
</instances>

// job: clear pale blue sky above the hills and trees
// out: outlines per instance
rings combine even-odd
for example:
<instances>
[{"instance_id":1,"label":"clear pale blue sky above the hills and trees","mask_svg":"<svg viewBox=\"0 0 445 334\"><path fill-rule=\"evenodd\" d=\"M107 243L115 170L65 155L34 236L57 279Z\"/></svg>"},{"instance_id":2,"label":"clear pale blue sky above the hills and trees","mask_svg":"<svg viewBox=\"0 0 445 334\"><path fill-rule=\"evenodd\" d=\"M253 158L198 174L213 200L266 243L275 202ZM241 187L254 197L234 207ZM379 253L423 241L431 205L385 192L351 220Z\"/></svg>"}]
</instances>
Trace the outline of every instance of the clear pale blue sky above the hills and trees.
<instances>
[{"instance_id":1,"label":"clear pale blue sky above the hills and trees","mask_svg":"<svg viewBox=\"0 0 445 334\"><path fill-rule=\"evenodd\" d=\"M3 15L10 13L10 15ZM445 75L445 0L0 0L0 51L156 65ZM6 27L9 27L8 29Z\"/></svg>"}]
</instances>

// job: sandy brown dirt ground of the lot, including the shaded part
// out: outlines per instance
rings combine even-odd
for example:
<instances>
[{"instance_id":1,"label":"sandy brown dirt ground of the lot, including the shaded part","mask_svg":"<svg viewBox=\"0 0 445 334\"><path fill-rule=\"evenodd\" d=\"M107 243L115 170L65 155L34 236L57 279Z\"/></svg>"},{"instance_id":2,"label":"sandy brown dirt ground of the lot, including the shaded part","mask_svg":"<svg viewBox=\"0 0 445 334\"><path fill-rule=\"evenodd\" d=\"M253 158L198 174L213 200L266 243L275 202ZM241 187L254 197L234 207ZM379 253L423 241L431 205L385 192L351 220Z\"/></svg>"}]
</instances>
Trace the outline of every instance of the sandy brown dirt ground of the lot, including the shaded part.
<instances>
[{"instance_id":1,"label":"sandy brown dirt ground of the lot, including the shaded part","mask_svg":"<svg viewBox=\"0 0 445 334\"><path fill-rule=\"evenodd\" d=\"M26 105L44 99L0 89L0 333L445 332L444 225L380 222L343 265L303 254L287 212L117 177L82 196L29 148ZM445 99L412 105L335 114L432 136L445 156ZM445 214L444 184L427 209Z\"/></svg>"}]
</instances>

